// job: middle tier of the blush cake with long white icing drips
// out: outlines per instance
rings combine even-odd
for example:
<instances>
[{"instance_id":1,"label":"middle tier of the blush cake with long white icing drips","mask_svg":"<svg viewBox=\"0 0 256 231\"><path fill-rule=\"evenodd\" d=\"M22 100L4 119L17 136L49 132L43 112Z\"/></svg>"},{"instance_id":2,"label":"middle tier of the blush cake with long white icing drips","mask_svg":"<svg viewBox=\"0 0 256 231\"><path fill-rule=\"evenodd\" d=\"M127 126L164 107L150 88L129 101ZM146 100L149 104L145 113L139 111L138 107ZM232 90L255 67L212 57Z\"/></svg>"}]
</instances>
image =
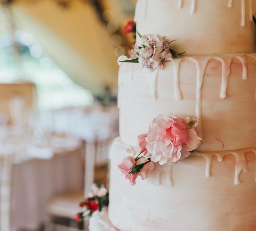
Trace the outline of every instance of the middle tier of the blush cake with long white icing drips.
<instances>
[{"instance_id":1,"label":"middle tier of the blush cake with long white icing drips","mask_svg":"<svg viewBox=\"0 0 256 231\"><path fill-rule=\"evenodd\" d=\"M188 56L163 70L123 63L119 69L120 137L137 146L158 114L194 116L198 151L236 150L256 142L256 54Z\"/></svg>"}]
</instances>

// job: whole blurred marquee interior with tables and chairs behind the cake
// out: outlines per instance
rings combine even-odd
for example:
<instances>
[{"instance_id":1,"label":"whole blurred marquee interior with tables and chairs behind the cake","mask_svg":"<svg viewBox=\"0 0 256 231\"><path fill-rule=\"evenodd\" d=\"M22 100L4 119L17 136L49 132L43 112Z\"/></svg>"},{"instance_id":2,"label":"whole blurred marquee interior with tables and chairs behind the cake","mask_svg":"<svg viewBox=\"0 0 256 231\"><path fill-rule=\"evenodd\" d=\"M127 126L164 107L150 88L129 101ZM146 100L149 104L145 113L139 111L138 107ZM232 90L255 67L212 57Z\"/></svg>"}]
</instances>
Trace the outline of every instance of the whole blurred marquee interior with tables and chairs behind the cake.
<instances>
[{"instance_id":1,"label":"whole blurred marquee interior with tables and chairs behind the cake","mask_svg":"<svg viewBox=\"0 0 256 231\"><path fill-rule=\"evenodd\" d=\"M118 136L136 0L0 0L0 230L73 231Z\"/></svg>"}]
</instances>

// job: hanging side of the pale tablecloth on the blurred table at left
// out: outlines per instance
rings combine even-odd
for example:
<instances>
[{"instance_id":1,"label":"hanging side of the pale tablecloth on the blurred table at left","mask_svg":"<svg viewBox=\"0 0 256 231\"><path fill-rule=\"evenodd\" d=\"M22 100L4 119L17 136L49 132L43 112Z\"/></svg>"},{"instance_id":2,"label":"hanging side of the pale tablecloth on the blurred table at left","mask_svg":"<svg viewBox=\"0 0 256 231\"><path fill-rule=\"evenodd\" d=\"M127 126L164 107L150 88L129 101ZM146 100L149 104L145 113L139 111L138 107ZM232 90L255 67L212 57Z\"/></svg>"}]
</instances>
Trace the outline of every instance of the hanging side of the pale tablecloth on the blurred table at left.
<instances>
[{"instance_id":1,"label":"hanging side of the pale tablecloth on the blurred table at left","mask_svg":"<svg viewBox=\"0 0 256 231\"><path fill-rule=\"evenodd\" d=\"M83 187L83 160L79 149L13 164L11 231L35 230L46 221L46 203L68 190Z\"/></svg>"}]
</instances>

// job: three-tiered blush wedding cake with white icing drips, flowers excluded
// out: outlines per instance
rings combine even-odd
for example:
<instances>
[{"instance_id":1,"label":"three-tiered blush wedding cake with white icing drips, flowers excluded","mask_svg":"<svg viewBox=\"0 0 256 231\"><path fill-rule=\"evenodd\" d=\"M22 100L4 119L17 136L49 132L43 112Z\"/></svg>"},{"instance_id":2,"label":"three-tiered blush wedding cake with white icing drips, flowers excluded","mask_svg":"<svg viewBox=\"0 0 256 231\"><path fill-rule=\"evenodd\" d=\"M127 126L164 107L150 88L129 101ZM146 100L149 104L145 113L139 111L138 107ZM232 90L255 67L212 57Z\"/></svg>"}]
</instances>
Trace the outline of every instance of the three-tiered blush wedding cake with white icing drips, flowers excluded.
<instances>
[{"instance_id":1,"label":"three-tiered blush wedding cake with white icing drips, flowers excluded","mask_svg":"<svg viewBox=\"0 0 256 231\"><path fill-rule=\"evenodd\" d=\"M177 39L173 49L186 53L162 70L120 67L108 210L116 229L256 231L255 10L255 0L138 0L139 33ZM170 113L197 118L201 145L131 186L117 165L153 118Z\"/></svg>"}]
</instances>

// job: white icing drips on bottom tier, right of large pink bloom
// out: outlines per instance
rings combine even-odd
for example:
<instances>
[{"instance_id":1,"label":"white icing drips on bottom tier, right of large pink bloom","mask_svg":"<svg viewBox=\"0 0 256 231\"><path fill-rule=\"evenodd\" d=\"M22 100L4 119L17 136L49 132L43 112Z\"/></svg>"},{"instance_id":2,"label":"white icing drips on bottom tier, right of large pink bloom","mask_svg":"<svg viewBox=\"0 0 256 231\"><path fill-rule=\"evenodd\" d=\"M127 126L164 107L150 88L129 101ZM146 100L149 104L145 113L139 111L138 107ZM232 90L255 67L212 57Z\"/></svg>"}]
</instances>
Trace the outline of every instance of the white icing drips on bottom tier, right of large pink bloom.
<instances>
[{"instance_id":1,"label":"white icing drips on bottom tier, right of large pink bloom","mask_svg":"<svg viewBox=\"0 0 256 231\"><path fill-rule=\"evenodd\" d=\"M206 171L205 176L210 177L211 176L211 160L213 156L218 157L218 161L222 162L223 158L226 155L234 155L236 158L236 166L235 166L235 179L234 184L238 185L241 184L241 181L239 179L240 173L243 171L244 173L248 172L248 164L245 159L245 153L247 152L253 152L256 156L256 149L255 148L246 148L243 150L236 150L236 151L219 151L219 152L212 152L212 153L200 153L195 151L195 155L197 156L203 156L206 159ZM256 164L256 163L255 163ZM256 182L256 173L255 173L255 182Z\"/></svg>"}]
</instances>

